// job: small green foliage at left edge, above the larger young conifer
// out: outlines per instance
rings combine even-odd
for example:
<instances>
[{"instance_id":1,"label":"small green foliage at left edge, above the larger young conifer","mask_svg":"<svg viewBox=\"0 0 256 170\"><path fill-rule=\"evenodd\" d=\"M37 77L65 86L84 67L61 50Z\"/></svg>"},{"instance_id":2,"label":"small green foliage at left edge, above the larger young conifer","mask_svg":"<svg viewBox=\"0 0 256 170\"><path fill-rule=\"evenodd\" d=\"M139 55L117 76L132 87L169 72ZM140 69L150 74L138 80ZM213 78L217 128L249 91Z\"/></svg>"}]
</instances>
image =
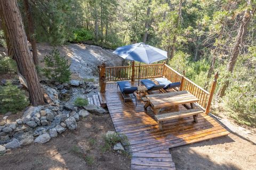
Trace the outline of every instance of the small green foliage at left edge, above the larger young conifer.
<instances>
[{"instance_id":1,"label":"small green foliage at left edge, above the larger young conifer","mask_svg":"<svg viewBox=\"0 0 256 170\"><path fill-rule=\"evenodd\" d=\"M9 74L17 71L17 64L16 62L10 57L5 56L4 58L0 59L0 72Z\"/></svg>"}]
</instances>

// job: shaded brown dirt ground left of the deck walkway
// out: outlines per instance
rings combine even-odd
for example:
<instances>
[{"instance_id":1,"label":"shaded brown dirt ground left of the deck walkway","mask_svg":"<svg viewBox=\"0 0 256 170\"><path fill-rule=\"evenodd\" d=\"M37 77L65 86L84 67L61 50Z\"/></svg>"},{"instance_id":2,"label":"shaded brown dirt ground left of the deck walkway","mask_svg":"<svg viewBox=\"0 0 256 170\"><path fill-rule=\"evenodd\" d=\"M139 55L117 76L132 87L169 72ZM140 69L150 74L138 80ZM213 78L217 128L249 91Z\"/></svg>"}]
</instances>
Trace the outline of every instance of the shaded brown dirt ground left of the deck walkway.
<instances>
[{"instance_id":1,"label":"shaded brown dirt ground left of the deck walkway","mask_svg":"<svg viewBox=\"0 0 256 170\"><path fill-rule=\"evenodd\" d=\"M102 135L109 130L114 131L109 115L90 115L75 131L7 152L0 157L0 169L130 169L130 158L102 152Z\"/></svg>"}]
</instances>

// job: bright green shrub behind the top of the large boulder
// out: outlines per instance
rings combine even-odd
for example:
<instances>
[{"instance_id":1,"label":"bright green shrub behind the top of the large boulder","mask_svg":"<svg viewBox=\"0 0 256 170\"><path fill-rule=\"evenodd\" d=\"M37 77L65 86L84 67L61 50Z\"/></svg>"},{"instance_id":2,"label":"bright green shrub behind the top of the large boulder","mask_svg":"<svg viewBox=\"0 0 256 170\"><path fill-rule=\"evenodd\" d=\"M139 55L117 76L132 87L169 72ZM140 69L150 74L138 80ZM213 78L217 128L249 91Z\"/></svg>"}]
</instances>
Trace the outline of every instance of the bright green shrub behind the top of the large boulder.
<instances>
[{"instance_id":1,"label":"bright green shrub behind the top of the large boulder","mask_svg":"<svg viewBox=\"0 0 256 170\"><path fill-rule=\"evenodd\" d=\"M77 29L74 31L74 39L71 40L75 43L81 43L91 41L93 39L93 33L87 29Z\"/></svg>"}]
</instances>

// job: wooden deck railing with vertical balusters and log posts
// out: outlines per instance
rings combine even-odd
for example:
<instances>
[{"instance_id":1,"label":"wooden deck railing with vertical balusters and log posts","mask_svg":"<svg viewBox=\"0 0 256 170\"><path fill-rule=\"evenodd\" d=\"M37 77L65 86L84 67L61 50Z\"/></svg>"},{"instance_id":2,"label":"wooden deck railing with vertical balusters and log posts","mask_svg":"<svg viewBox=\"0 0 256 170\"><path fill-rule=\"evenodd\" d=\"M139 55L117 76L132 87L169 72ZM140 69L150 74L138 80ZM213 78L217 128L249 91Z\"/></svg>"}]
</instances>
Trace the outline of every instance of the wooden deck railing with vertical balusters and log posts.
<instances>
[{"instance_id":1,"label":"wooden deck railing with vertical balusters and log posts","mask_svg":"<svg viewBox=\"0 0 256 170\"><path fill-rule=\"evenodd\" d=\"M139 78L139 66L135 66L134 62L132 66L122 67L105 67L105 64L99 66L100 69L100 86L101 92L105 92L106 82L119 81L119 80L132 80ZM196 103L199 107L205 110L205 114L210 111L211 101L215 86L217 84L218 72L215 74L215 78L212 82L210 92L207 92L202 87L198 86L187 77L181 75L179 72L167 66L165 63L161 64L143 64L140 66L140 78L157 78L165 77L170 82L181 82L179 90L186 90L195 95L199 101ZM105 85L104 85L105 84Z\"/></svg>"}]
</instances>

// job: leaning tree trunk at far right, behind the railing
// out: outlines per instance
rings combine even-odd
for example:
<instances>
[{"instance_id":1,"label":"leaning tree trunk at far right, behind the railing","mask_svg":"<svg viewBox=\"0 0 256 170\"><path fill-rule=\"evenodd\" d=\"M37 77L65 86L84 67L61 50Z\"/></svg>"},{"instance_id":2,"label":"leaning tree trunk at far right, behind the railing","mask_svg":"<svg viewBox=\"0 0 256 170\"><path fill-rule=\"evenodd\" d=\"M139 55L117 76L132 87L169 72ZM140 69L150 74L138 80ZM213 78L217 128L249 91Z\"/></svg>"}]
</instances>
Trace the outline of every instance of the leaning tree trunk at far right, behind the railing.
<instances>
[{"instance_id":1,"label":"leaning tree trunk at far right, behind the railing","mask_svg":"<svg viewBox=\"0 0 256 170\"><path fill-rule=\"evenodd\" d=\"M255 6L252 7L252 10L250 10L248 7L250 5L251 5L251 1L247 2L247 9L244 12L244 16L243 16L243 19L242 19L242 22L241 22L241 25L239 27L238 34L236 37L234 50L233 50L231 57L229 59L229 62L228 62L227 71L229 71L231 74L233 73L233 70L236 65L237 57L238 57L239 52L243 46L244 37L245 37L246 31L247 31L247 26L256 10ZM226 77L226 79L227 79L227 77ZM225 91L226 91L228 85L229 85L229 80L225 80L223 86L220 88L220 90L218 92L218 96L220 98L225 95Z\"/></svg>"}]
</instances>

